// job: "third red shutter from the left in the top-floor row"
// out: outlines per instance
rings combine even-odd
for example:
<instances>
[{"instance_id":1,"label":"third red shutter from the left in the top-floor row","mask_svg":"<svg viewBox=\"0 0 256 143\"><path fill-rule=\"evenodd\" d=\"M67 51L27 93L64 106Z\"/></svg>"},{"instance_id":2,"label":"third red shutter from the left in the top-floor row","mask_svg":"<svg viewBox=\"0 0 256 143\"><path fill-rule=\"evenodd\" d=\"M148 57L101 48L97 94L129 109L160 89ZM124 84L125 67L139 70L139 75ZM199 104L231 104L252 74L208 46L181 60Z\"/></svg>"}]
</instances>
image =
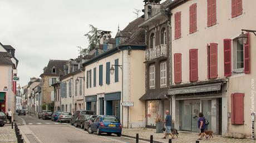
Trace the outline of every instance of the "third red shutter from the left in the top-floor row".
<instances>
[{"instance_id":1,"label":"third red shutter from the left in the top-floor row","mask_svg":"<svg viewBox=\"0 0 256 143\"><path fill-rule=\"evenodd\" d=\"M216 0L207 0L207 27L216 24Z\"/></svg>"}]
</instances>

